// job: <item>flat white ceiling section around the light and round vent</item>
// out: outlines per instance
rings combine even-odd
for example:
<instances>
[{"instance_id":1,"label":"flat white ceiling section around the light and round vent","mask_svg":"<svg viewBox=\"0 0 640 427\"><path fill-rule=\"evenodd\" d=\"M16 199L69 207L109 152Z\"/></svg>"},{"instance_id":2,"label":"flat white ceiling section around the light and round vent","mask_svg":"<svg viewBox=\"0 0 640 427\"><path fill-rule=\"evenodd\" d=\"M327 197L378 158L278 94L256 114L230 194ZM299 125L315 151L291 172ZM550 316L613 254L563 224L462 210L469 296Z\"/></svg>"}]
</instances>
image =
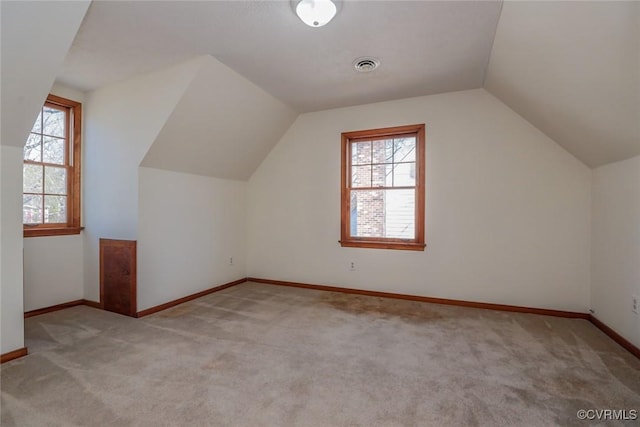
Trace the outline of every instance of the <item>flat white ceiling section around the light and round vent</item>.
<instances>
[{"instance_id":1,"label":"flat white ceiling section around the light and round vent","mask_svg":"<svg viewBox=\"0 0 640 427\"><path fill-rule=\"evenodd\" d=\"M60 81L93 90L209 54L298 112L482 86L499 1L340 1L310 28L281 1L94 1ZM373 55L381 66L356 73Z\"/></svg>"}]
</instances>

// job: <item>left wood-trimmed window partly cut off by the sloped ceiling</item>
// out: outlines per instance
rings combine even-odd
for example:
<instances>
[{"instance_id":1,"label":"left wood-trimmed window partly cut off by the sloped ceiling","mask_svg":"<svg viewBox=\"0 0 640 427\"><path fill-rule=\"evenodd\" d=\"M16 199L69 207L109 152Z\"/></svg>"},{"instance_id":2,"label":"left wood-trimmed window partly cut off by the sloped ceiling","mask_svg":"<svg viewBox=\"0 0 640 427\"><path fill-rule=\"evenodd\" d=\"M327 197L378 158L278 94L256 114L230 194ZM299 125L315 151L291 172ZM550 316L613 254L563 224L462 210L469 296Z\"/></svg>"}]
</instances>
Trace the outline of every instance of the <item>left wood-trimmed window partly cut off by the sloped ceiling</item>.
<instances>
[{"instance_id":1,"label":"left wood-trimmed window partly cut off by the sloped ceiling","mask_svg":"<svg viewBox=\"0 0 640 427\"><path fill-rule=\"evenodd\" d=\"M79 234L82 105L49 95L24 146L24 236Z\"/></svg>"}]
</instances>

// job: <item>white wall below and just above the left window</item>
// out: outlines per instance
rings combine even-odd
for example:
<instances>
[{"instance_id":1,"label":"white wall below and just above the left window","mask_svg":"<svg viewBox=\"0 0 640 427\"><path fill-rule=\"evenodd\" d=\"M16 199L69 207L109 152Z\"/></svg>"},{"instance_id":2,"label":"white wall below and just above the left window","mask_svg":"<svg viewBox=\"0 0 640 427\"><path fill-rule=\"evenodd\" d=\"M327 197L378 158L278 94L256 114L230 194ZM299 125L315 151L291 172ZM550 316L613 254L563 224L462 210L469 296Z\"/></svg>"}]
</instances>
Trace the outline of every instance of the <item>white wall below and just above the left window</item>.
<instances>
[{"instance_id":1,"label":"white wall below and just above the left window","mask_svg":"<svg viewBox=\"0 0 640 427\"><path fill-rule=\"evenodd\" d=\"M85 101L84 93L59 84L54 84L49 93L83 104ZM82 299L83 263L82 235L24 239L24 310Z\"/></svg>"}]
</instances>

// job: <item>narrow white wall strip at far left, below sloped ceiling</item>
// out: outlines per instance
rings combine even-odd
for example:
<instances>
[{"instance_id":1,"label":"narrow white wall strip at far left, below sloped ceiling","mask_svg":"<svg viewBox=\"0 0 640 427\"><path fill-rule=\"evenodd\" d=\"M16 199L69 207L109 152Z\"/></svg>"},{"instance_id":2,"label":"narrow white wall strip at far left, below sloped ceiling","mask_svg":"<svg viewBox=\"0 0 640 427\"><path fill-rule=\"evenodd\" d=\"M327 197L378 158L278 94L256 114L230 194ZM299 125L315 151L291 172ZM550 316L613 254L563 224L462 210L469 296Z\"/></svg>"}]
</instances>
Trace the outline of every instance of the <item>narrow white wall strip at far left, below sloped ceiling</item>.
<instances>
[{"instance_id":1,"label":"narrow white wall strip at far left, below sloped ceiling","mask_svg":"<svg viewBox=\"0 0 640 427\"><path fill-rule=\"evenodd\" d=\"M24 347L22 147L0 146L0 353Z\"/></svg>"}]
</instances>

